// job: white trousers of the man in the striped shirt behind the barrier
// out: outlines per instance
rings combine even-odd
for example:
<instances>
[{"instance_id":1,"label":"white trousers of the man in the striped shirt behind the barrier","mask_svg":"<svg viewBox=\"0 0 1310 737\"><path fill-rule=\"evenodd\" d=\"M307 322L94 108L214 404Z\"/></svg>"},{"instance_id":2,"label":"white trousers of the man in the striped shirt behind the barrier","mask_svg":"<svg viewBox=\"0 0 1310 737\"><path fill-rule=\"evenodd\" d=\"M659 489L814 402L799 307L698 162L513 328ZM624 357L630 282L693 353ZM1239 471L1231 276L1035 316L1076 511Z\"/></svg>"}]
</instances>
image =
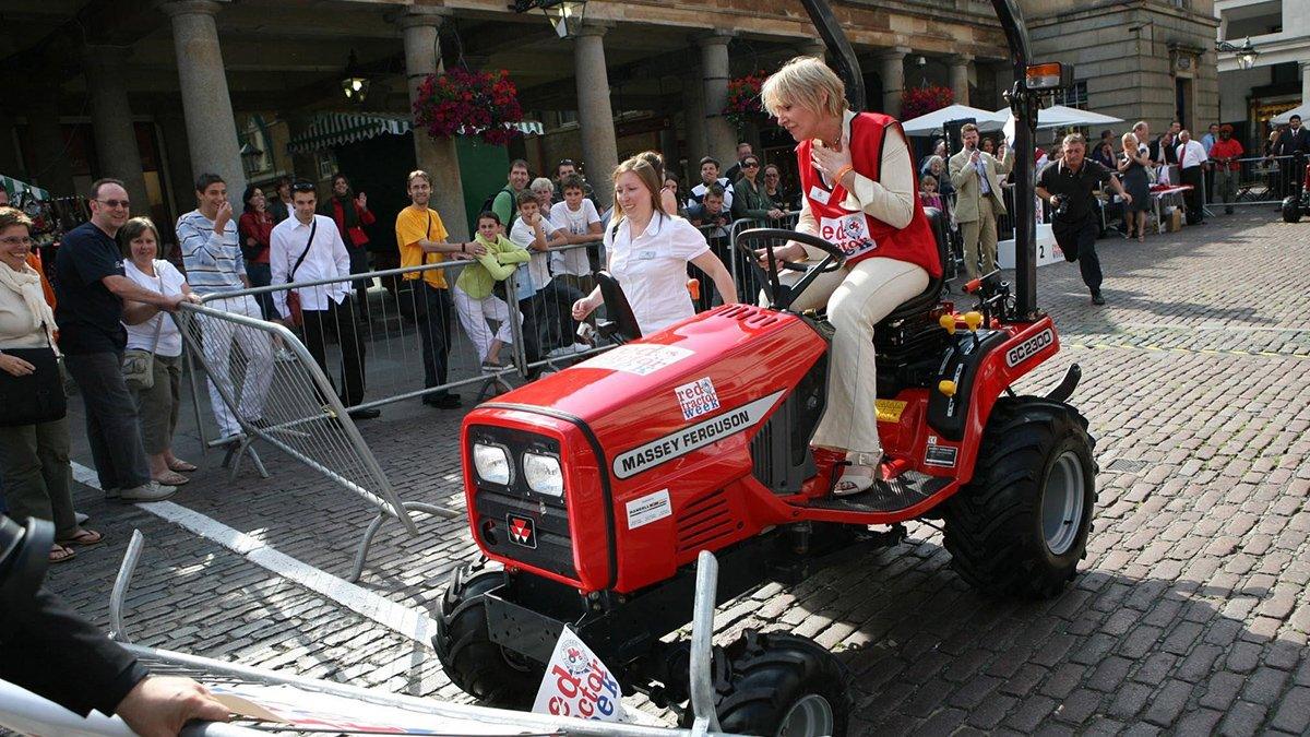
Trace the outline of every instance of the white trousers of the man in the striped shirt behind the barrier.
<instances>
[{"instance_id":1,"label":"white trousers of the man in the striped shirt behind the barrier","mask_svg":"<svg viewBox=\"0 0 1310 737\"><path fill-rule=\"evenodd\" d=\"M232 315L263 319L259 304L253 296L215 299L204 306ZM241 417L246 420L263 417L263 403L272 382L272 336L231 320L204 315L198 316L198 320L203 330L204 363L210 374L210 405L214 407L214 417L219 422L221 437L234 435L241 431L241 425L223 400L223 395L232 397ZM245 357L245 379L241 382L240 393L232 380L233 345L240 346Z\"/></svg>"}]
</instances>

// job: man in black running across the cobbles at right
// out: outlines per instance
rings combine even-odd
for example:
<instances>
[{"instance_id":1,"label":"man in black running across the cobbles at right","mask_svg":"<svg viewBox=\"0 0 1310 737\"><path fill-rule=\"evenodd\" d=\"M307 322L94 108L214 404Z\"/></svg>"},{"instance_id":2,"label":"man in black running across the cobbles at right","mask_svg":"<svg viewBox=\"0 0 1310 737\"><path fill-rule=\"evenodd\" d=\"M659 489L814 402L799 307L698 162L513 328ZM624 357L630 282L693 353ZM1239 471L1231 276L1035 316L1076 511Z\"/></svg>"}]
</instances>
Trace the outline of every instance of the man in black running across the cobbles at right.
<instances>
[{"instance_id":1,"label":"man in black running across the cobbles at right","mask_svg":"<svg viewBox=\"0 0 1310 737\"><path fill-rule=\"evenodd\" d=\"M1091 290L1091 303L1104 304L1106 298L1100 296L1100 258L1096 257L1096 236L1100 233L1096 207L1100 203L1093 193L1110 182L1125 205L1133 198L1110 169L1086 155L1087 142L1078 134L1066 135L1062 156L1038 174L1038 195L1055 209L1051 229L1065 260L1078 262L1082 281Z\"/></svg>"}]
</instances>

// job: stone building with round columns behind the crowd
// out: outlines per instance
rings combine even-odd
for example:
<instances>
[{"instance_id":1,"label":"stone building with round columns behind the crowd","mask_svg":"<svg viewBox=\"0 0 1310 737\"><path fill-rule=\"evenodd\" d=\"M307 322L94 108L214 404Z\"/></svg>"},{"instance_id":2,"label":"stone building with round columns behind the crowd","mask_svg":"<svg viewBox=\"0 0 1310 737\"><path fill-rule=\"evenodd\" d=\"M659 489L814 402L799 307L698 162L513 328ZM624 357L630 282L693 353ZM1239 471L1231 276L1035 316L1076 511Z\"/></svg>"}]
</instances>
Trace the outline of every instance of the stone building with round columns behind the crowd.
<instances>
[{"instance_id":1,"label":"stone building with round columns behind the crowd","mask_svg":"<svg viewBox=\"0 0 1310 737\"><path fill-rule=\"evenodd\" d=\"M989 3L834 0L833 9L859 55L870 109L896 114L905 87L921 84L1001 105L1009 63ZM134 210L169 222L194 206L199 172L221 174L237 198L248 180L321 180L343 160L381 165L347 155L368 136L314 138L324 115L345 113L383 121L379 136L410 136L413 159L393 161L396 148L384 147L388 170L431 170L456 235L477 191L465 191L468 161L495 159L386 125L407 118L430 73L507 70L542 129L506 156L527 156L542 173L570 157L604 180L621 156L646 148L675 169L703 155L731 160L743 138L785 155L789 142L736 130L720 114L728 81L824 52L791 0L591 0L566 38L540 10L514 13L504 0L7 0L0 20L0 63L26 85L0 110L0 173L58 194L115 176ZM351 58L352 73L369 80L362 104L342 93ZM608 188L597 190L608 199Z\"/></svg>"}]
</instances>

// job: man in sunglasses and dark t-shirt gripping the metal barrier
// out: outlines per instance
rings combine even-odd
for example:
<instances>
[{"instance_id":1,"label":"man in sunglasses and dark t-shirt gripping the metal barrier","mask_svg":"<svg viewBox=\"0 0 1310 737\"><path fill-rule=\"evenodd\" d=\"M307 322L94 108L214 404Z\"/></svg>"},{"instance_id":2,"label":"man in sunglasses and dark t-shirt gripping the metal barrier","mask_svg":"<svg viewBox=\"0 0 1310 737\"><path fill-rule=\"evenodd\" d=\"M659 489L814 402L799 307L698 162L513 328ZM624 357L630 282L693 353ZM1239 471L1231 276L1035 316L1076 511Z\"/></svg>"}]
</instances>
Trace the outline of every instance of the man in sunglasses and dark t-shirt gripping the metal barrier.
<instances>
[{"instance_id":1,"label":"man in sunglasses and dark t-shirt gripping the metal barrier","mask_svg":"<svg viewBox=\"0 0 1310 737\"><path fill-rule=\"evenodd\" d=\"M90 222L69 231L55 257L55 323L64 365L86 407L86 439L105 496L123 501L159 501L173 487L151 479L136 401L123 380L123 302L143 302L169 312L185 295L164 296L123 274L123 256L114 236L131 214L127 190L118 180L90 188Z\"/></svg>"}]
</instances>

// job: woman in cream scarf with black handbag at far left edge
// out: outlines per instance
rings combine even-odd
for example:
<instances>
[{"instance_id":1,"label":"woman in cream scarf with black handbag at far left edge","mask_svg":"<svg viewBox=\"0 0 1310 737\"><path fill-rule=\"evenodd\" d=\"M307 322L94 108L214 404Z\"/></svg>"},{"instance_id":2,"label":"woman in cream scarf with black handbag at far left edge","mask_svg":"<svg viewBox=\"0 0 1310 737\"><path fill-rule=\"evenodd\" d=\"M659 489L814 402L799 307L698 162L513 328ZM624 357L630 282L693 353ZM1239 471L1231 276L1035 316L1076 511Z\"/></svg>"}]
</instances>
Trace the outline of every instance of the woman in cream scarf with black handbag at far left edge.
<instances>
[{"instance_id":1,"label":"woman in cream scarf with black handbag at far left edge","mask_svg":"<svg viewBox=\"0 0 1310 737\"><path fill-rule=\"evenodd\" d=\"M31 219L0 207L0 475L9 517L55 523L50 563L73 557L69 546L105 539L77 526L63 375L55 349L55 315L28 265Z\"/></svg>"}]
</instances>

